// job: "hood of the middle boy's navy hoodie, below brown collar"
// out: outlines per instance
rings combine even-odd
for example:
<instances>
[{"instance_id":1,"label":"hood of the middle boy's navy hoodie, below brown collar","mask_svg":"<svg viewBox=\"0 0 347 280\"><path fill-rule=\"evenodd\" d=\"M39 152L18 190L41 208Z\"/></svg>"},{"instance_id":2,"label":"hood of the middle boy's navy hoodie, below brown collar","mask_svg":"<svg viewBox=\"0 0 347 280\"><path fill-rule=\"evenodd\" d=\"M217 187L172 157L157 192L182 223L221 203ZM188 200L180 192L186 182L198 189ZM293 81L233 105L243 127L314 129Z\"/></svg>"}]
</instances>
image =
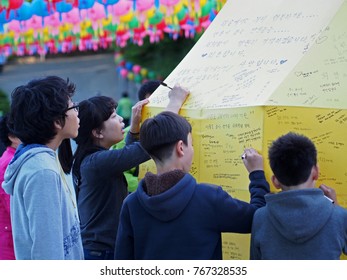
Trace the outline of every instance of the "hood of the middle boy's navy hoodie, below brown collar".
<instances>
[{"instance_id":1,"label":"hood of the middle boy's navy hoodie, below brown collar","mask_svg":"<svg viewBox=\"0 0 347 280\"><path fill-rule=\"evenodd\" d=\"M170 189L158 195L149 196L145 192L144 180L141 180L136 190L137 198L142 207L153 217L168 222L175 219L186 208L196 188L196 180L190 174L184 177Z\"/></svg>"}]
</instances>

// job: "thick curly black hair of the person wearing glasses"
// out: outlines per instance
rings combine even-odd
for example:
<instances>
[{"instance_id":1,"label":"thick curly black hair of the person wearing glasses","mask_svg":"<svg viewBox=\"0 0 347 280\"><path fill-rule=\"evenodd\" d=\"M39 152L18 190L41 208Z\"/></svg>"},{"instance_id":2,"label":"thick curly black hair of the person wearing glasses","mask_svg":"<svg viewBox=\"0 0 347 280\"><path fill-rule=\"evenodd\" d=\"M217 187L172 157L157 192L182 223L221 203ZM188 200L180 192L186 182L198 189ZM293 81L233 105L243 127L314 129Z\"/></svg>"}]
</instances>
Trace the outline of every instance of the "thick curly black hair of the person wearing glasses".
<instances>
[{"instance_id":1,"label":"thick curly black hair of the person wearing glasses","mask_svg":"<svg viewBox=\"0 0 347 280\"><path fill-rule=\"evenodd\" d=\"M23 144L46 145L57 134L55 121L65 125L65 111L75 85L57 76L31 80L11 94L8 127Z\"/></svg>"}]
</instances>

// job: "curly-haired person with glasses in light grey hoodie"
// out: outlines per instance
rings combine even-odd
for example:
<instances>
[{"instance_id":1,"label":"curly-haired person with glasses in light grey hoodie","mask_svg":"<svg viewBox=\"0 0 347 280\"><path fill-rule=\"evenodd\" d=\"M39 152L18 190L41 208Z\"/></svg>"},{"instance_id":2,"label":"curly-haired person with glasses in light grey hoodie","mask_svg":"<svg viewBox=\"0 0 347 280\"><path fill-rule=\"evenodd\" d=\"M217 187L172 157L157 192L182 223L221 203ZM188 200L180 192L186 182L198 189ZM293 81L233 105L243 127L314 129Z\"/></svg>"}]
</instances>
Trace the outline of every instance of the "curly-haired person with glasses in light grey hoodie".
<instances>
[{"instance_id":1,"label":"curly-haired person with glasses in light grey hoodie","mask_svg":"<svg viewBox=\"0 0 347 280\"><path fill-rule=\"evenodd\" d=\"M32 80L12 92L9 129L22 145L2 187L11 195L16 259L84 258L75 194L64 174L71 153L59 155L60 161L56 153L78 134L74 92L69 79L57 76Z\"/></svg>"}]
</instances>

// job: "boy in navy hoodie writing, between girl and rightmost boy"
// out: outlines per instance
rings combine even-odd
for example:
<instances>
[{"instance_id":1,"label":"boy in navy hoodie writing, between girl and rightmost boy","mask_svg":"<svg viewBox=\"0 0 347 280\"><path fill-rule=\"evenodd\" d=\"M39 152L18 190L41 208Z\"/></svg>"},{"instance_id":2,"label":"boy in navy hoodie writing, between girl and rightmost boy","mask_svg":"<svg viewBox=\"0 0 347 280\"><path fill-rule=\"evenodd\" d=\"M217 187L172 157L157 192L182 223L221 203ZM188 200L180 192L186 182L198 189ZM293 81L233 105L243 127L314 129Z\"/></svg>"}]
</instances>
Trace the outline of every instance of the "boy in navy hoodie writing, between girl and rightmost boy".
<instances>
[{"instance_id":1,"label":"boy in navy hoodie writing, between girl and rightmost boy","mask_svg":"<svg viewBox=\"0 0 347 280\"><path fill-rule=\"evenodd\" d=\"M116 259L222 259L222 232L250 233L253 214L265 205L269 185L263 158L246 149L250 203L232 198L219 186L199 184L189 174L192 127L171 112L147 119L140 143L155 161L121 210Z\"/></svg>"}]
</instances>

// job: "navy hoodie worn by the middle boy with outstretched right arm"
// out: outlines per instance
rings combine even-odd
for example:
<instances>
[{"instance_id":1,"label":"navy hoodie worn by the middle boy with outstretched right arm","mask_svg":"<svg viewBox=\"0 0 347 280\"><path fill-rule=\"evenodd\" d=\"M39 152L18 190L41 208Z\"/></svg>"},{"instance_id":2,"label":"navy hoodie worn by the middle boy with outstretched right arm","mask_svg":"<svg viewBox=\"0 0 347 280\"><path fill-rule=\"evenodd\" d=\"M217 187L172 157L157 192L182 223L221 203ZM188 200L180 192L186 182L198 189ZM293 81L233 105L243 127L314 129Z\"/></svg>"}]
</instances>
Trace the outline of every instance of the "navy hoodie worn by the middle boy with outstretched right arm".
<instances>
[{"instance_id":1,"label":"navy hoodie worn by the middle boy with outstretched right arm","mask_svg":"<svg viewBox=\"0 0 347 280\"><path fill-rule=\"evenodd\" d=\"M250 180L250 203L190 174L153 196L141 180L122 206L116 259L222 259L221 233L250 233L254 212L265 205L264 172L252 172Z\"/></svg>"}]
</instances>

